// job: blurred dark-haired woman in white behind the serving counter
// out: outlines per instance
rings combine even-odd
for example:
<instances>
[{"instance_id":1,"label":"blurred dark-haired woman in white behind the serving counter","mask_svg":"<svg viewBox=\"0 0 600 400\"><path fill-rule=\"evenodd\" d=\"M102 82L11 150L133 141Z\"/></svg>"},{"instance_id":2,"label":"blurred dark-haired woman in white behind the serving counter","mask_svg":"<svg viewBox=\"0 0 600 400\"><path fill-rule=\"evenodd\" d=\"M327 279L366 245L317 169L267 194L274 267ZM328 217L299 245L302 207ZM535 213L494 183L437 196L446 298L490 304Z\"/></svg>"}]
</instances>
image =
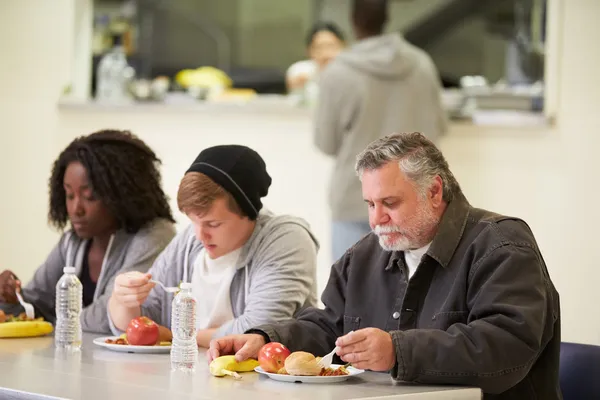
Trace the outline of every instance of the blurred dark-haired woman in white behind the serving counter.
<instances>
[{"instance_id":1,"label":"blurred dark-haired woman in white behind the serving counter","mask_svg":"<svg viewBox=\"0 0 600 400\"><path fill-rule=\"evenodd\" d=\"M344 34L331 22L318 22L306 38L309 59L292 64L286 72L289 92L316 87L317 75L345 47Z\"/></svg>"}]
</instances>

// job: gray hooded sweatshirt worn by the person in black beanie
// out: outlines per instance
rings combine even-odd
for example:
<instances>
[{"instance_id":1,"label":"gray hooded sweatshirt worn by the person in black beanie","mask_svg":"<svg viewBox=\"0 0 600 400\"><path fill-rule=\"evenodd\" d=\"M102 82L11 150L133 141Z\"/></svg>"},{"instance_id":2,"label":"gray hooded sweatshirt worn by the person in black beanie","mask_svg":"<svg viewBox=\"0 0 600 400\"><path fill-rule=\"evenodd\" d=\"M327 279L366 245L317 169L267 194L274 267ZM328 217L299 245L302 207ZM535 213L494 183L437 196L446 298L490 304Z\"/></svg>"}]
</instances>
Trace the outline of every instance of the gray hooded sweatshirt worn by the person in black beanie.
<instances>
[{"instance_id":1,"label":"gray hooded sweatshirt worn by the person in black beanie","mask_svg":"<svg viewBox=\"0 0 600 400\"><path fill-rule=\"evenodd\" d=\"M254 232L242 247L231 282L234 319L222 325L213 337L243 333L254 326L290 319L301 308L315 306L318 248L306 221L261 211ZM191 282L201 249L202 243L190 225L178 233L149 273L166 286ZM173 296L155 286L142 305L142 315L170 329ZM111 329L115 335L122 333L112 321Z\"/></svg>"}]
</instances>

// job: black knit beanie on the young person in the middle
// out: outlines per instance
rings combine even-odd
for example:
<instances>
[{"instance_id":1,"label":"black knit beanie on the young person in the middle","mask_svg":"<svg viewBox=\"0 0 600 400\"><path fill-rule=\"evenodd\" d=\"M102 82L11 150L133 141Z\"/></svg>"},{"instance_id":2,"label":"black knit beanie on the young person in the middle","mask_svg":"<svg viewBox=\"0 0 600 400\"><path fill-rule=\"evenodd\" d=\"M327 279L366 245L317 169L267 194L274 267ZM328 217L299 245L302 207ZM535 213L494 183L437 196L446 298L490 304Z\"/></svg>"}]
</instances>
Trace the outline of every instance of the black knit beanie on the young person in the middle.
<instances>
[{"instance_id":1,"label":"black knit beanie on the young person in the middle","mask_svg":"<svg viewBox=\"0 0 600 400\"><path fill-rule=\"evenodd\" d=\"M252 220L258 217L260 199L271 186L264 160L246 146L223 145L202 150L188 172L201 172L223 187Z\"/></svg>"}]
</instances>

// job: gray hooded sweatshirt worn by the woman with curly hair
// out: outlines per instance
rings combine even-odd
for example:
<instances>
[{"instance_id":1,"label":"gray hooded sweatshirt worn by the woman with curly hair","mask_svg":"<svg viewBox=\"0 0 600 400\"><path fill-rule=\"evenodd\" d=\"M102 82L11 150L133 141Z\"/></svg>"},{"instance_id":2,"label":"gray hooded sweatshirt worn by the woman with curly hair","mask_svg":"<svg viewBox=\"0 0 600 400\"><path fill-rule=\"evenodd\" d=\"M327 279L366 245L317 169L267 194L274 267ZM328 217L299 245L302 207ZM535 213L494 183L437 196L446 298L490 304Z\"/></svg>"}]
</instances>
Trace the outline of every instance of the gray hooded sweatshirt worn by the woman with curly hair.
<instances>
[{"instance_id":1,"label":"gray hooded sweatshirt worn by the woman with curly hair","mask_svg":"<svg viewBox=\"0 0 600 400\"><path fill-rule=\"evenodd\" d=\"M113 290L115 277L127 271L148 271L174 236L174 224L164 219L154 221L135 234L120 230L113 235L107 249L106 263L96 283L94 301L84 308L81 314L84 331L110 332L106 305ZM54 323L56 284L63 275L65 266L74 266L77 276L80 276L86 243L87 240L80 239L73 231L65 232L46 261L37 269L33 279L23 287L23 298L33 304L36 316L43 316L47 321ZM21 305L3 304L2 308L10 313L23 311Z\"/></svg>"}]
</instances>

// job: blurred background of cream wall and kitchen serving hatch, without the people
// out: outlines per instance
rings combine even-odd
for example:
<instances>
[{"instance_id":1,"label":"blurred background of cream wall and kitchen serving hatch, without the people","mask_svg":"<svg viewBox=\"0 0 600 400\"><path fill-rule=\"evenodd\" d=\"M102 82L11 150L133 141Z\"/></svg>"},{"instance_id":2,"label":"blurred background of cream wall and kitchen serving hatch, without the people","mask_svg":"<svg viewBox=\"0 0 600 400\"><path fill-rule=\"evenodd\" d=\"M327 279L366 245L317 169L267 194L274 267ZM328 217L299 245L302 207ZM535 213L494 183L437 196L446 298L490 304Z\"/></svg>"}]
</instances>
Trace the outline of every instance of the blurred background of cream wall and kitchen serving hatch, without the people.
<instances>
[{"instance_id":1,"label":"blurred background of cream wall and kitchen serving hatch, without the people","mask_svg":"<svg viewBox=\"0 0 600 400\"><path fill-rule=\"evenodd\" d=\"M21 0L0 3L0 267L27 281L55 243L50 163L74 137L130 129L175 193L201 148L240 143L273 176L266 206L309 221L330 267L332 160L312 144L310 96L286 71L347 0ZM451 118L441 148L472 204L523 217L563 307L563 339L600 344L597 0L391 0L387 31L430 54ZM177 214L180 228L187 224Z\"/></svg>"}]
</instances>

